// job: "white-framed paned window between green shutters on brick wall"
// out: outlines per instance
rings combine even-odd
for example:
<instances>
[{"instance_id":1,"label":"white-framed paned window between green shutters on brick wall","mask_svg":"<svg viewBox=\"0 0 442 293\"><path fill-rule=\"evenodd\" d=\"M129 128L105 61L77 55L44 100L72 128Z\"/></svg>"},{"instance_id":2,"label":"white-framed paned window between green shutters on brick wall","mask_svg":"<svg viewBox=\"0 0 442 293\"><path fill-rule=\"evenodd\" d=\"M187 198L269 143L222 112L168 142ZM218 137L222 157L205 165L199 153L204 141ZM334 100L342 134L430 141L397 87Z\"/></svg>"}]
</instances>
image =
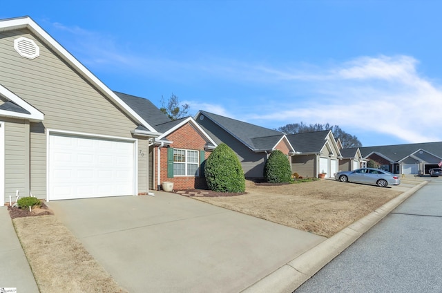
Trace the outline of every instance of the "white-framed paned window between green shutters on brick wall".
<instances>
[{"instance_id":1,"label":"white-framed paned window between green shutters on brick wall","mask_svg":"<svg viewBox=\"0 0 442 293\"><path fill-rule=\"evenodd\" d=\"M173 149L173 176L198 176L198 151Z\"/></svg>"}]
</instances>

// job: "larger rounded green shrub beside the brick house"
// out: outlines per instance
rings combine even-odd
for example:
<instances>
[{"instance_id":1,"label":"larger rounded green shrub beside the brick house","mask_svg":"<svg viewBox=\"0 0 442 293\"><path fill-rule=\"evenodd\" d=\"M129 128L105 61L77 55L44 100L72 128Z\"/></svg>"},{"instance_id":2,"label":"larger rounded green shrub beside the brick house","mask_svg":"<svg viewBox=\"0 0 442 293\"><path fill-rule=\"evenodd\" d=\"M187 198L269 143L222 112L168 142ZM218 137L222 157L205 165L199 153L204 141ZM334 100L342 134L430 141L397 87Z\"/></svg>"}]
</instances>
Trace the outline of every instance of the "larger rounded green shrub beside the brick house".
<instances>
[{"instance_id":1,"label":"larger rounded green shrub beside the brick house","mask_svg":"<svg viewBox=\"0 0 442 293\"><path fill-rule=\"evenodd\" d=\"M227 146L219 144L209 155L204 166L209 189L218 192L244 192L246 180L240 160Z\"/></svg>"}]
</instances>

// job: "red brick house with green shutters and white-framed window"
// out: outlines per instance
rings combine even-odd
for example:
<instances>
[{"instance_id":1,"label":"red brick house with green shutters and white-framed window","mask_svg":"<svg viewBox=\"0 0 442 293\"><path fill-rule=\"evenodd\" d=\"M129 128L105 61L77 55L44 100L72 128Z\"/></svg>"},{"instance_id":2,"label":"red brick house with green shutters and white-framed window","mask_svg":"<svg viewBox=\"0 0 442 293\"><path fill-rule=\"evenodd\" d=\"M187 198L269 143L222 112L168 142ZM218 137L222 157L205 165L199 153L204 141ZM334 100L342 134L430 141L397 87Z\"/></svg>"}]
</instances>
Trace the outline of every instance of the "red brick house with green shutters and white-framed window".
<instances>
[{"instance_id":1,"label":"red brick house with green shutters and white-framed window","mask_svg":"<svg viewBox=\"0 0 442 293\"><path fill-rule=\"evenodd\" d=\"M171 120L142 97L115 93L155 131L162 133L149 144L151 188L160 190L164 181L173 182L173 189L204 187L203 163L217 144L200 125L192 117Z\"/></svg>"}]
</instances>

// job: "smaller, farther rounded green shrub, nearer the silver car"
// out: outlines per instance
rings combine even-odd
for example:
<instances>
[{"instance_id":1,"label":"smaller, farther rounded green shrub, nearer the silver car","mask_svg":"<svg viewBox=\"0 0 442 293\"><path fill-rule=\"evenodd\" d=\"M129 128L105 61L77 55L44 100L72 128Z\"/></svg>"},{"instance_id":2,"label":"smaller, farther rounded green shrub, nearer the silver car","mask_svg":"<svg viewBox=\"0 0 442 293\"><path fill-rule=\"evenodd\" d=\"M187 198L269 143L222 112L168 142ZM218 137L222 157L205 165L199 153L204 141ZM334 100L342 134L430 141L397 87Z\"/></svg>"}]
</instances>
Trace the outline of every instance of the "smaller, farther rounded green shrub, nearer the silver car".
<instances>
[{"instance_id":1,"label":"smaller, farther rounded green shrub, nearer the silver car","mask_svg":"<svg viewBox=\"0 0 442 293\"><path fill-rule=\"evenodd\" d=\"M264 166L264 178L270 183L291 182L290 162L282 151L273 151Z\"/></svg>"}]
</instances>

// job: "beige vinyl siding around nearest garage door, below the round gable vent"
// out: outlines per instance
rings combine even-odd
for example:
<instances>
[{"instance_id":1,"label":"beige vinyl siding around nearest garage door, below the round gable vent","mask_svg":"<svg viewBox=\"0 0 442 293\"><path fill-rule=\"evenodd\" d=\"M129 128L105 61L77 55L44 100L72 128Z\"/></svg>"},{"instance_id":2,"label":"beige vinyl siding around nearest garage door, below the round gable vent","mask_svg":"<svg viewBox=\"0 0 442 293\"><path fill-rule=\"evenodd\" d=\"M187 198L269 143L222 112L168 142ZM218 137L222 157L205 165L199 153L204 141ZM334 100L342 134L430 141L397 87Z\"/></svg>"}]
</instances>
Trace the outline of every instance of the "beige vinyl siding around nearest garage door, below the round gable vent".
<instances>
[{"instance_id":1,"label":"beige vinyl siding around nearest garage door, below the round gable vent","mask_svg":"<svg viewBox=\"0 0 442 293\"><path fill-rule=\"evenodd\" d=\"M26 59L15 51L14 39L21 36L35 41L39 57ZM0 84L44 113L44 122L31 123L30 128L30 185L39 197L46 197L44 129L132 138L137 124L28 30L0 33L0 64ZM145 189L145 177L139 181L140 192Z\"/></svg>"}]
</instances>

